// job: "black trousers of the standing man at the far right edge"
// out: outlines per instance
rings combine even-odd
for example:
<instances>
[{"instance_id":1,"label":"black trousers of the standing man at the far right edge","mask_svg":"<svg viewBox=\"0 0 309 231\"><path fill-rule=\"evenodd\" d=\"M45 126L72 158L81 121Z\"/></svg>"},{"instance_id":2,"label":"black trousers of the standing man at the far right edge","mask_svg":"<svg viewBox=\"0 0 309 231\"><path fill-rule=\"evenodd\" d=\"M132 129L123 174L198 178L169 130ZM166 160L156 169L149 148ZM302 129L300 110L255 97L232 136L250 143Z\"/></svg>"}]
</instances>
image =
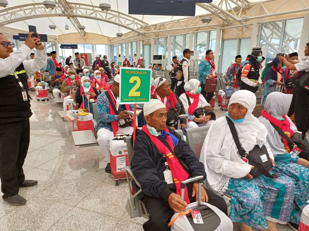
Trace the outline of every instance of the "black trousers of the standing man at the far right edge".
<instances>
[{"instance_id":1,"label":"black trousers of the standing man at the far right edge","mask_svg":"<svg viewBox=\"0 0 309 231\"><path fill-rule=\"evenodd\" d=\"M296 128L306 136L309 127L309 92L298 87L294 105Z\"/></svg>"}]
</instances>

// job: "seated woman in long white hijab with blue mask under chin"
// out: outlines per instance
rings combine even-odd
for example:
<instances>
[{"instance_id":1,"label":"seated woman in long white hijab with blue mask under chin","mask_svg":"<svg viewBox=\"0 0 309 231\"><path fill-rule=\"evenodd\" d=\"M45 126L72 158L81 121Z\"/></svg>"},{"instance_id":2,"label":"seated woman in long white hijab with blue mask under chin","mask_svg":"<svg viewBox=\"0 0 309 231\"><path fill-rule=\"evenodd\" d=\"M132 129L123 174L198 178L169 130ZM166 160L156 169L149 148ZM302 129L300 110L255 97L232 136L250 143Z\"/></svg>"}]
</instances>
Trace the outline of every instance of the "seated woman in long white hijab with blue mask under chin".
<instances>
[{"instance_id":1,"label":"seated woman in long white hijab with blue mask under chin","mask_svg":"<svg viewBox=\"0 0 309 231\"><path fill-rule=\"evenodd\" d=\"M252 115L255 105L256 97L252 92L236 91L226 116L235 125L241 147L249 152L262 142L274 166L273 154L266 141L267 130ZM200 161L207 173L205 183L217 192L231 195L229 217L242 223L242 231L251 231L251 227L277 231L277 222L285 224L289 221L295 194L294 180L287 176L253 178L250 174L253 166L239 156L226 117L220 117L211 125Z\"/></svg>"}]
</instances>

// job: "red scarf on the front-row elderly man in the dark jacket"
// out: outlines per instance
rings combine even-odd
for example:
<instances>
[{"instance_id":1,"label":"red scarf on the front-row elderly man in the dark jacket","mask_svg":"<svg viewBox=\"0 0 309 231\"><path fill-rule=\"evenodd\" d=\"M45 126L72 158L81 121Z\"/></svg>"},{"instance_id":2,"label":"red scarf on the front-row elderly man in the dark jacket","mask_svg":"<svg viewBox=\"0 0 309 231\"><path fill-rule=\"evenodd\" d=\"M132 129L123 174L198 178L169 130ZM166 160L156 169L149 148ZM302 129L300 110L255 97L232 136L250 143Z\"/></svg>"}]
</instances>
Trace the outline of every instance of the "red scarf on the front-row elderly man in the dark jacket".
<instances>
[{"instance_id":1,"label":"red scarf on the front-row elderly man in the dark jacket","mask_svg":"<svg viewBox=\"0 0 309 231\"><path fill-rule=\"evenodd\" d=\"M151 135L150 132L148 131L148 128L146 125L142 127L143 132L145 132L149 137L151 142L156 146L159 152L164 154L166 157L166 161L168 166L171 169L171 173L173 176L173 180L176 186L176 194L181 197L181 188L180 188L180 183L183 180L187 180L189 175L188 173L184 170L184 168L181 166L179 163L179 160L170 152L170 150L158 139L158 137ZM170 132L167 127L165 126L164 128L165 132ZM170 136L165 136L166 142L170 145L171 150L174 152L174 144ZM184 191L184 201L187 202L187 204L190 204L190 200L188 197L188 190L187 186Z\"/></svg>"}]
</instances>

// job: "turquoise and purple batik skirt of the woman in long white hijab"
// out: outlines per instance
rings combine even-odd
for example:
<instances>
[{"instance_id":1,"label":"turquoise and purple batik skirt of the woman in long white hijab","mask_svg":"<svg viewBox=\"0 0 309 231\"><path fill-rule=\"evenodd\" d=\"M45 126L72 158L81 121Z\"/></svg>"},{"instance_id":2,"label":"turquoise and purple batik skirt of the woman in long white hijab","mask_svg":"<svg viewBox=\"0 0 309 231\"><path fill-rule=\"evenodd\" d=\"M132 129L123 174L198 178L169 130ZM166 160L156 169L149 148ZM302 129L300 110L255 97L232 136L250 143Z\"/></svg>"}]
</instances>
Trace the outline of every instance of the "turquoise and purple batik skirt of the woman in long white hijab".
<instances>
[{"instance_id":1,"label":"turquoise and purple batik skirt of the woman in long white hijab","mask_svg":"<svg viewBox=\"0 0 309 231\"><path fill-rule=\"evenodd\" d=\"M257 229L268 227L265 216L290 221L294 198L294 180L287 176L252 180L231 178L226 193L231 195L230 219Z\"/></svg>"}]
</instances>

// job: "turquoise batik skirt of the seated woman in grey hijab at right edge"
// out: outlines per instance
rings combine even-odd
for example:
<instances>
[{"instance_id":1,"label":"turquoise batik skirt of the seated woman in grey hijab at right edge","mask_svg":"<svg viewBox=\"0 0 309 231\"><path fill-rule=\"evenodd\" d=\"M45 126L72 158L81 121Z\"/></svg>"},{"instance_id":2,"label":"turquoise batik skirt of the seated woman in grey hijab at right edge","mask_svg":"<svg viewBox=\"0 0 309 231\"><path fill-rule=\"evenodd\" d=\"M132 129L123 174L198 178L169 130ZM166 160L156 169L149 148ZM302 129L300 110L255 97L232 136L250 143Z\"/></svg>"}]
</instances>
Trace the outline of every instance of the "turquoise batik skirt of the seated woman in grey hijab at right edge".
<instances>
[{"instance_id":1,"label":"turquoise batik skirt of the seated woman in grey hijab at right edge","mask_svg":"<svg viewBox=\"0 0 309 231\"><path fill-rule=\"evenodd\" d=\"M297 164L298 156L289 153L277 155L274 172L278 172L294 179L295 195L290 221L298 224L303 208L309 199L309 169Z\"/></svg>"}]
</instances>

